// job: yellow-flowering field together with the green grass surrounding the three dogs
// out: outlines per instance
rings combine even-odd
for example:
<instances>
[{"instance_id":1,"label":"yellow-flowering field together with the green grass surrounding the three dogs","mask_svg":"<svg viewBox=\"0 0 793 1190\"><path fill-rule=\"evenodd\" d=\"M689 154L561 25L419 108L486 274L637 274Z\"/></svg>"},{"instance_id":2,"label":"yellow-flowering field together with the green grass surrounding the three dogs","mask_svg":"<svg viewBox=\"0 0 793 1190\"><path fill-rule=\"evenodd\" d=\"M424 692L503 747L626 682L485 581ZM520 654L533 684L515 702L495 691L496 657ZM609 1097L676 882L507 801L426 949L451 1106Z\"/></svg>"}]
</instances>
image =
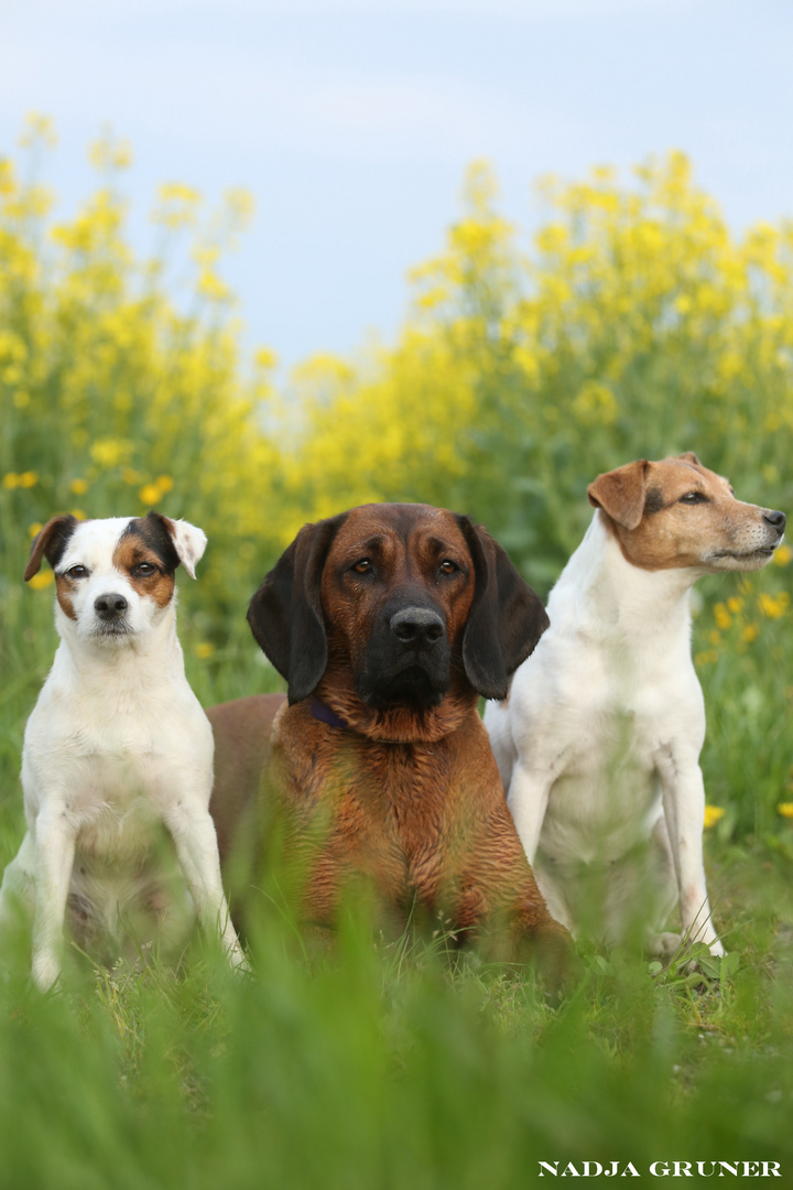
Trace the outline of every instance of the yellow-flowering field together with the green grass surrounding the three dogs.
<instances>
[{"instance_id":1,"label":"yellow-flowering field together with the green grass surrounding the three dogs","mask_svg":"<svg viewBox=\"0 0 793 1190\"><path fill-rule=\"evenodd\" d=\"M365 500L472 514L543 594L586 486L696 450L739 496L793 509L793 225L736 237L679 154L627 180L546 180L533 244L485 164L395 342L277 378L222 276L252 214L163 187L133 252L127 145L58 219L51 124L0 155L0 864L21 837L21 738L55 649L52 577L21 580L56 512L155 507L206 530L180 633L204 704L275 688L245 609L306 521ZM732 953L667 969L581 948L553 1001L530 972L342 923L296 953L277 890L254 975L199 939L83 964L54 997L0 979L0 1184L58 1190L524 1190L539 1160L793 1163L791 550L698 588L711 903ZM265 890L266 892L266 890ZM285 929L288 934L288 929ZM783 1184L780 1183L780 1184Z\"/></svg>"}]
</instances>

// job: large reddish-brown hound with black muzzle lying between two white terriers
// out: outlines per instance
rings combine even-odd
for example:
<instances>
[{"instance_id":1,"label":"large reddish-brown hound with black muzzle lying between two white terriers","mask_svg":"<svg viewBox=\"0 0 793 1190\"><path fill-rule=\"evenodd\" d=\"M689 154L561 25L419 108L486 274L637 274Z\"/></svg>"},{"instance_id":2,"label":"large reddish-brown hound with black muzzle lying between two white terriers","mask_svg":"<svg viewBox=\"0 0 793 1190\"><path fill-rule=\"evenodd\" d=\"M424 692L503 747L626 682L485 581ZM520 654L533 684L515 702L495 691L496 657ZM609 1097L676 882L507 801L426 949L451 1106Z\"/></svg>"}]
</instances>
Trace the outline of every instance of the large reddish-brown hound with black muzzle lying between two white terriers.
<instances>
[{"instance_id":1,"label":"large reddish-brown hound with black muzzle lying between two white terriers","mask_svg":"<svg viewBox=\"0 0 793 1190\"><path fill-rule=\"evenodd\" d=\"M248 622L289 695L209 710L222 859L275 715L268 784L306 873L306 921L331 925L363 876L397 926L418 913L499 957L564 952L477 712L478 696L506 696L548 625L505 551L467 516L365 505L301 530Z\"/></svg>"}]
</instances>

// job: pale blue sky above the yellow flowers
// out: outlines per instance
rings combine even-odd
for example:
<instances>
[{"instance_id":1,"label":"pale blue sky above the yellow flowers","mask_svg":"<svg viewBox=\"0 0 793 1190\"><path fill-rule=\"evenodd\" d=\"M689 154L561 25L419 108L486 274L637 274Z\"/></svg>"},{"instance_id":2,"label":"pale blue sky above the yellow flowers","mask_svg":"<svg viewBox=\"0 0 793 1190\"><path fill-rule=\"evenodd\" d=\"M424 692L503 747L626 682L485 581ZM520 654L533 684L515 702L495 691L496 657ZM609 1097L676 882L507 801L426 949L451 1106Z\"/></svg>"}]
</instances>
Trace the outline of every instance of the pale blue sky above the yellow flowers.
<instances>
[{"instance_id":1,"label":"pale blue sky above the yellow flowers","mask_svg":"<svg viewBox=\"0 0 793 1190\"><path fill-rule=\"evenodd\" d=\"M141 249L158 183L248 188L225 275L285 364L396 333L473 158L527 240L537 176L669 148L736 230L793 217L789 0L0 0L0 154L31 109L67 213L99 129L132 142Z\"/></svg>"}]
</instances>

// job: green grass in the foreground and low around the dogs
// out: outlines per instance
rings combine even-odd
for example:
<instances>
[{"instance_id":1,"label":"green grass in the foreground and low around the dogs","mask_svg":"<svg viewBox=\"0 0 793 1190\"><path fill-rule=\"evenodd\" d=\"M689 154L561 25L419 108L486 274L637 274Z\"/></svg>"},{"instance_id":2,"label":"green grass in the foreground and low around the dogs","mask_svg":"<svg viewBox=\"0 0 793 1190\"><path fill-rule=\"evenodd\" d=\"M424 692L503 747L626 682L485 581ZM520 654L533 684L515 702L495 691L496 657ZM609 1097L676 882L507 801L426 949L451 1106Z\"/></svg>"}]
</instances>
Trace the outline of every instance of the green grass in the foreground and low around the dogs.
<instances>
[{"instance_id":1,"label":"green grass in the foreground and low around the dogs","mask_svg":"<svg viewBox=\"0 0 793 1190\"><path fill-rule=\"evenodd\" d=\"M4 863L23 829L24 722L55 644L40 599L14 609ZM188 601L181 619L206 703L272 684L244 632L201 662ZM333 952L315 954L265 897L243 982L200 938L178 973L81 960L48 997L19 957L0 990L0 1186L517 1190L540 1160L630 1160L649 1182L655 1160L764 1159L789 1177L793 826L770 829L767 813L789 763L786 677L755 653L704 676L706 781L736 807L706 838L724 967L663 971L585 947L558 1000L530 970L453 962L438 942L385 945L354 914Z\"/></svg>"}]
</instances>

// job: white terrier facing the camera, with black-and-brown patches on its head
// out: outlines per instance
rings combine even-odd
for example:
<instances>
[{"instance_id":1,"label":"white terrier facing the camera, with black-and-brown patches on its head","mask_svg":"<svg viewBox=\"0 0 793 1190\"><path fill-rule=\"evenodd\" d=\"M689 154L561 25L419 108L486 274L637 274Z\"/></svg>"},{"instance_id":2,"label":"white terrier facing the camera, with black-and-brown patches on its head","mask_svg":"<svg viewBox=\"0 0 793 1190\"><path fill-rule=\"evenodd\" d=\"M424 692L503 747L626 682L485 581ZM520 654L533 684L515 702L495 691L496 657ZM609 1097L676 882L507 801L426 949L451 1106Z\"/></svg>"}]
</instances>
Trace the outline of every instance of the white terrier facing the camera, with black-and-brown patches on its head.
<instances>
[{"instance_id":1,"label":"white terrier facing the camera, with black-and-brown patches on its head","mask_svg":"<svg viewBox=\"0 0 793 1190\"><path fill-rule=\"evenodd\" d=\"M20 903L34 910L42 990L61 972L64 919L78 946L109 957L125 934L176 953L197 913L245 965L208 809L212 729L176 635L174 571L181 562L195 578L206 543L153 512L55 516L33 541L25 580L46 557L61 644L25 729L27 833L0 888L0 927Z\"/></svg>"}]
</instances>

